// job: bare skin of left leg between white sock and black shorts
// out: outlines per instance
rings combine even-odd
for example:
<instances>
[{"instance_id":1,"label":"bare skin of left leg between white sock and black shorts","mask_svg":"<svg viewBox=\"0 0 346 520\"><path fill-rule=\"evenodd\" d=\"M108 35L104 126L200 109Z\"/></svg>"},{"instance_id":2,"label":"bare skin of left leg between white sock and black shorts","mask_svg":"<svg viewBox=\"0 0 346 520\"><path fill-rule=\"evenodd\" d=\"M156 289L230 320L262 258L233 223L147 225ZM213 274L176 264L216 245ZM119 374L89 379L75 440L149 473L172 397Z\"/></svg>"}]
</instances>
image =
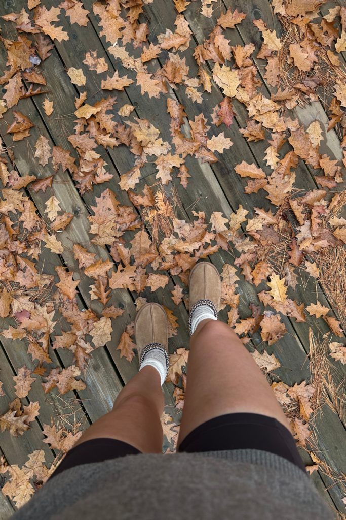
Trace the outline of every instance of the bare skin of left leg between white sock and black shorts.
<instances>
[{"instance_id":1,"label":"bare skin of left leg between white sock and black shorts","mask_svg":"<svg viewBox=\"0 0 346 520\"><path fill-rule=\"evenodd\" d=\"M143 453L162 453L161 415L164 398L158 371L143 367L121 390L113 410L95 421L75 446L107 437L122 440Z\"/></svg>"}]
</instances>

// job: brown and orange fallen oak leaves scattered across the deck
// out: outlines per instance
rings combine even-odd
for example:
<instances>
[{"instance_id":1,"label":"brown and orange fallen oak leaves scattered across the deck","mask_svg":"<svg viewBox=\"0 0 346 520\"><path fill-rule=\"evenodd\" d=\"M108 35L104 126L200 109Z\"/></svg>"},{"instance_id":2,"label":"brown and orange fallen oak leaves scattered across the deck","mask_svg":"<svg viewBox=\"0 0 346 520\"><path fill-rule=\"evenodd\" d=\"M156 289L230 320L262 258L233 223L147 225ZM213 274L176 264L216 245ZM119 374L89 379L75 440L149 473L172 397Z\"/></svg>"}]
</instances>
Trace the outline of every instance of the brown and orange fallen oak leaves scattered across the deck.
<instances>
[{"instance_id":1,"label":"brown and orange fallen oak leaves scattered across the deck","mask_svg":"<svg viewBox=\"0 0 346 520\"><path fill-rule=\"evenodd\" d=\"M343 164L322 155L319 152L323 139L320 123L315 120L305 128L288 111L322 98L330 112L328 131L334 128L341 148L346 148L346 74L338 56L346 50L346 9L336 6L322 16L320 8L325 0L293 0L290 3L272 0L283 35L278 37L261 19L253 20L263 40L259 53L254 56L253 44L233 46L225 36L227 29L236 31L234 28L249 16L247 13L238 12L238 9L232 12L231 8L225 12L218 8L219 18L211 26L209 37L196 45L184 16L189 4L186 0L174 0L175 32L167 29L165 33L153 33L150 38L156 38L156 43L149 44L149 22L140 23L139 17L145 12L145 4L153 1L106 0L93 4L93 14L102 28L100 35L110 44L108 53L121 61L122 75L117 70L110 77L105 59L98 57L97 51L85 49L83 63L90 71L103 74L101 89L111 94L106 97L105 93L105 97L93 105L92 98L89 102L87 99L92 93L85 91L76 97L75 133L68 137L71 150L51 147L48 139L40 135L33 152L37 164L45 167L50 163L55 174L67 171L81 196L92 192L95 184L104 185L101 196L96 197L95 205L90 207L88 231L92 237L90 242L105 248L114 262L96 258L88 251L87 244L83 244L84 247L75 243L72 249L78 261L79 275L82 275L79 278L89 277L91 301L103 304L102 313L96 314L91 308L79 309L80 279L74 280L74 272L66 269L63 262L55 267L60 279L58 283L54 283L54 277L45 274L44 269L38 272L36 261L42 248L57 255L64 252L58 233L71 225L74 215L61 210L61 201L54 194L45 203L44 214L37 213L31 193L45 193L48 187L54 192L55 174L45 178L21 177L13 153L15 148L2 146L0 316L5 321L1 334L12 340L26 338L29 342L27 355L37 360L35 370L24 365L13 377L18 399L9 402L8 411L0 417L1 430L9 430L11 435L25 435L30 422L39 414L38 401L30 402L22 409L20 400L28 395L30 399L34 377L43 378L43 398L54 388L62 395L69 391L78 395L86 388L85 371L92 363L92 352L112 339L115 320L124 310L108 304L112 290L136 292L135 304L139 309L147 301L141 296L145 288L155 293L159 288L166 288L173 276L178 276L180 282L174 279L171 298L175 306L185 304L188 309L187 285L191 268L199 259L210 258L219 250L231 253L234 258L233 262L224 265L221 273L221 309L227 310L230 327L242 337L258 365L267 373L280 367L279 360L273 354L269 355L266 348L287 333L282 316L298 322L306 321L306 313L323 317L333 334L344 337L341 323L330 316L329 308L318 301L304 308L304 304L288 297L288 289L294 290L306 276L319 280L325 275L321 263L325 252L344 248L346 219L341 213L345 197L341 189L346 152L343 152ZM213 2L201 1L203 16L213 16ZM21 99L48 94L43 100L43 109L47 116L53 114L51 93L48 89L41 90L46 86L42 63L51 55L52 41L61 43L69 39L68 33L56 22L59 23L59 17L66 16L70 17L71 23L88 30L89 14L77 0L66 0L49 10L41 0L28 0L27 9L2 17L11 24L12 30L11 38L0 36L9 67L0 77L5 92L0 100L0 117L16 107L12 110L12 124L2 132L11 134L13 141L26 139L34 126L29 115L19 111ZM184 57L184 52L191 47L198 65L197 77L190 76ZM133 55L137 48L141 48L140 58ZM148 72L148 62L160 55L162 58L163 51L168 51L168 59L155 72ZM266 97L256 66L258 60L264 59L266 73L262 79L271 97ZM164 141L155 121L136 117L133 105L126 104L117 110L121 123L113 120L117 103L114 91L134 83L127 76L129 69L135 71L136 86L141 89L144 99L147 96L159 98L180 90L198 106L203 96L217 87L224 97L211 114L200 112L190 118L179 101L165 96L172 138L170 142ZM71 67L66 70L67 81L83 87L86 76L82 69ZM29 87L25 86L28 82ZM187 155L213 164L222 160L224 150L230 149L232 141L225 137L225 129L236 121L233 98L243 103L247 111L246 126L240 129L243 138L268 144L265 157L261 158L267 163L266 172L259 163L249 164L244 160L234 166L234 171L246 179L244 193L262 193L262 197L272 204L271 210L255 207L254 217L250 218L248 211L240 205L230 215L212 211L206 216L204 212L192 211L190 222L179 219L182 215L179 215L179 201L172 182L177 179L176 182L188 190L188 179L192 174L185 165ZM213 131L225 125L224 131L211 137L212 125ZM280 154L285 142L286 147L290 145L289 151ZM120 176L119 182L119 190L128 193L132 203L129 206L122 205L104 184L113 175L107 172L103 157L108 147L113 150L118 146L128 147L133 156L133 167ZM100 147L104 148L103 153ZM71 157L72 151L78 158ZM299 160L309 168L316 189L307 191L295 187ZM156 166L157 184L146 185L143 193L138 193L136 185L148 162ZM132 240L126 240L126 231L134 232ZM238 314L240 291L237 282L243 280L241 277L256 288L263 281L267 284L267 288L258 293L262 306L251 304L251 316L246 319L240 319ZM169 321L169 337L173 337L179 326L177 318L172 310L164 308ZM7 323L8 319L12 324ZM62 334L56 330L58 319L68 324ZM264 347L261 350L252 342L257 331ZM131 362L134 348L133 323L130 323L121 335L120 356ZM50 349L71 350L72 365L63 369L51 368ZM344 343L331 342L329 356L344 364ZM170 358L167 382L174 384L176 409L182 410L188 350L179 348ZM311 435L309 421L316 410L313 384L303 382L290 388L282 381L274 380L272 389L286 410L298 445L306 447ZM178 425L167 413L161 421L173 450ZM62 453L70 449L80 435L75 430L57 429L54 422L50 426L44 425L43 433L46 435L44 442ZM44 465L43 451L38 450L30 455L22 469L3 463L0 471L9 475L4 494L20 506L31 497L37 482L45 482L51 470Z\"/></svg>"}]
</instances>

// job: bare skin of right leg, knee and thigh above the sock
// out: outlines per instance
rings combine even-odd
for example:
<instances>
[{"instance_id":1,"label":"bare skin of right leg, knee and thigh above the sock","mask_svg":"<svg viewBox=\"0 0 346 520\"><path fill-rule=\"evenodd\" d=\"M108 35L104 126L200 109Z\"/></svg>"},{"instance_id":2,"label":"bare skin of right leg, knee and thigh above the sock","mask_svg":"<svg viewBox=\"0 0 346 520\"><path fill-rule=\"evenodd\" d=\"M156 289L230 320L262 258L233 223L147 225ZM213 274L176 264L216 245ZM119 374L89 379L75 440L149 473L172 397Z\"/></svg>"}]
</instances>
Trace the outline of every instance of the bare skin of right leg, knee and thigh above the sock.
<instances>
[{"instance_id":1,"label":"bare skin of right leg, knee and thigh above the sock","mask_svg":"<svg viewBox=\"0 0 346 520\"><path fill-rule=\"evenodd\" d=\"M201 321L191 336L178 445L200 424L226 413L268 415L288 427L264 374L233 330Z\"/></svg>"}]
</instances>

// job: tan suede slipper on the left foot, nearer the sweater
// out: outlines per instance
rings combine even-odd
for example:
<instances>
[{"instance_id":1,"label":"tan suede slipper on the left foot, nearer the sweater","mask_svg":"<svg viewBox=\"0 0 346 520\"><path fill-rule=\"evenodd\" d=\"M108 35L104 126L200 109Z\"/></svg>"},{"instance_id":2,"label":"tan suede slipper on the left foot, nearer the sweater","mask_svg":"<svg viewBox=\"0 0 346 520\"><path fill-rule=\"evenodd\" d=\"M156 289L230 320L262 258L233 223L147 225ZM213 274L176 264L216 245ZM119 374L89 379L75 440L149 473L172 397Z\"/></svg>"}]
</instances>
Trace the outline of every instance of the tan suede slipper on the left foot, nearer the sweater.
<instances>
[{"instance_id":1,"label":"tan suede slipper on the left foot, nearer the sweater","mask_svg":"<svg viewBox=\"0 0 346 520\"><path fill-rule=\"evenodd\" d=\"M158 303L146 303L139 310L134 322L134 335L140 364L149 350L162 350L169 367L168 321L164 308Z\"/></svg>"}]
</instances>

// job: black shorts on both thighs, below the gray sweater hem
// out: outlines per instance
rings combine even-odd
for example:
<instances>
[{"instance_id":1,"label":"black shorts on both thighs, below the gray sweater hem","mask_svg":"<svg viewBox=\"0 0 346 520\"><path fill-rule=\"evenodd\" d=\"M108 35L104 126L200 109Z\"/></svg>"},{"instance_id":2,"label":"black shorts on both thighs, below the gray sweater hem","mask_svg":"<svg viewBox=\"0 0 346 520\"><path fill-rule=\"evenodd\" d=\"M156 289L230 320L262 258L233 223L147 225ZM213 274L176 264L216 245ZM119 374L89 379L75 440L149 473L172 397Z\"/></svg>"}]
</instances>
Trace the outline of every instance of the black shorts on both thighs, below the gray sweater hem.
<instances>
[{"instance_id":1,"label":"black shorts on both thighs, below the gray sweater hem","mask_svg":"<svg viewBox=\"0 0 346 520\"><path fill-rule=\"evenodd\" d=\"M201 453L239 449L269 451L306 471L288 428L276 419L257 413L229 413L206 421L185 437L178 451ZM102 462L137 453L141 452L121 440L86 440L66 454L50 478L80 464Z\"/></svg>"}]
</instances>

